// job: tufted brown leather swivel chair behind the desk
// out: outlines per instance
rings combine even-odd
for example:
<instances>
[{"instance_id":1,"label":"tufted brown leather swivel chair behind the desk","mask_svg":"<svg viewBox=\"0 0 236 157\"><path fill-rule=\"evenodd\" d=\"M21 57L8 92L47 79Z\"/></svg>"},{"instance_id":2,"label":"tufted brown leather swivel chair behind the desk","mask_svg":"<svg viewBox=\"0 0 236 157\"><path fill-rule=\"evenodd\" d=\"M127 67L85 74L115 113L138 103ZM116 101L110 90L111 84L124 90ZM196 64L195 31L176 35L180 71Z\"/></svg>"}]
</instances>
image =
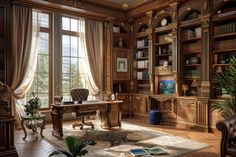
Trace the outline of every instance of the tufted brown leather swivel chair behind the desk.
<instances>
[{"instance_id":1,"label":"tufted brown leather swivel chair behind the desk","mask_svg":"<svg viewBox=\"0 0 236 157\"><path fill-rule=\"evenodd\" d=\"M71 92L71 97L73 101L78 101L78 102L82 102L82 101L86 101L89 95L89 91L88 89L85 88L75 88L72 89ZM74 123L72 126L73 128L75 128L76 126L80 126L80 129L83 129L84 125L87 126L91 126L92 129L94 129L94 125L92 124L92 122L86 122L85 120L87 118L89 118L90 116L95 116L96 115L96 110L92 110L92 111L79 111L79 109L76 111L75 114L73 114L74 116L76 116L79 119L82 119L81 123Z\"/></svg>"}]
</instances>

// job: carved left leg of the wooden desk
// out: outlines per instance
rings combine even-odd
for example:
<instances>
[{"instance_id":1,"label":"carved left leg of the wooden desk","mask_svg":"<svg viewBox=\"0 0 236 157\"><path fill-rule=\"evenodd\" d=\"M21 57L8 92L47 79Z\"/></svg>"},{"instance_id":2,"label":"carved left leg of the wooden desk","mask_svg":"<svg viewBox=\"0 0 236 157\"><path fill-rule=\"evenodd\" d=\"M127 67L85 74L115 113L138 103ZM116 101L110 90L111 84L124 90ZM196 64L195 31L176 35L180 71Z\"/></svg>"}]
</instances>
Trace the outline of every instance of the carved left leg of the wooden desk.
<instances>
[{"instance_id":1,"label":"carved left leg of the wooden desk","mask_svg":"<svg viewBox=\"0 0 236 157\"><path fill-rule=\"evenodd\" d=\"M53 131L52 135L62 138L62 118L63 118L63 107L53 107L52 112Z\"/></svg>"}]
</instances>

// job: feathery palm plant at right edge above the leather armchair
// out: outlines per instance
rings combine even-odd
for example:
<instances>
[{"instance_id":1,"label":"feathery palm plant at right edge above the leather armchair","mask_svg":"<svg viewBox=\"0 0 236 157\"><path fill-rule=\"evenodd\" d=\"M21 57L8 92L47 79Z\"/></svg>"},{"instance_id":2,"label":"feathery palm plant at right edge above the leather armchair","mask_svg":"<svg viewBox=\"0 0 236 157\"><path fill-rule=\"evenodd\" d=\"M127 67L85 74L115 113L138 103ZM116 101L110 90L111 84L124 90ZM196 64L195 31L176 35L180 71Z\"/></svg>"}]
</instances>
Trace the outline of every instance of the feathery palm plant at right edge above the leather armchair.
<instances>
[{"instance_id":1,"label":"feathery palm plant at right edge above the leather armchair","mask_svg":"<svg viewBox=\"0 0 236 157\"><path fill-rule=\"evenodd\" d=\"M236 58L230 59L230 64L226 67L224 73L216 73L213 79L216 83L216 89L224 89L229 98L222 103L213 103L213 110L218 110L223 118L229 118L236 113Z\"/></svg>"}]
</instances>

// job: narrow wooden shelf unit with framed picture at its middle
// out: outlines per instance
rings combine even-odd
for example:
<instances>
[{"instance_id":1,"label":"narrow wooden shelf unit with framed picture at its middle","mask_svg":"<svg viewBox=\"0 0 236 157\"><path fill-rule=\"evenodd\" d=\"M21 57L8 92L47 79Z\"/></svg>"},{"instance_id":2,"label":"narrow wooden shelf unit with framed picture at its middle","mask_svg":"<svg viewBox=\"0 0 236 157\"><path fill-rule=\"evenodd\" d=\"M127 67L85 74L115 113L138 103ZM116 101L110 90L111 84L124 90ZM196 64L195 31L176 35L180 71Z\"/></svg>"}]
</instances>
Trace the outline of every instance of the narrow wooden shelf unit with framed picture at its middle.
<instances>
[{"instance_id":1,"label":"narrow wooden shelf unit with framed picture at its middle","mask_svg":"<svg viewBox=\"0 0 236 157\"><path fill-rule=\"evenodd\" d=\"M112 92L129 92L130 81L130 62L131 62L131 44L130 44L130 25L115 21L112 28ZM120 66L121 65L121 66ZM123 69L121 69L122 67Z\"/></svg>"}]
</instances>

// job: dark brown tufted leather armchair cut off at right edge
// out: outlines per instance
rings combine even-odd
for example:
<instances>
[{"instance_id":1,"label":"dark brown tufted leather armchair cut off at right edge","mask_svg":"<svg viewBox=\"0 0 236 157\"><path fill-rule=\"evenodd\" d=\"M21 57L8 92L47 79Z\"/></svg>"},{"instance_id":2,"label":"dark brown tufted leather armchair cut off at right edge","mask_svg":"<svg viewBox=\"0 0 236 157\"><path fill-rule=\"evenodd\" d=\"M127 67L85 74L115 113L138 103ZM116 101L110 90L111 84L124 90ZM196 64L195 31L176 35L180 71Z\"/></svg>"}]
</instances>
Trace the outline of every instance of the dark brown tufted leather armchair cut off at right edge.
<instances>
[{"instance_id":1,"label":"dark brown tufted leather armchair cut off at right edge","mask_svg":"<svg viewBox=\"0 0 236 157\"><path fill-rule=\"evenodd\" d=\"M221 131L220 156L236 157L236 114L229 119L219 121L216 127Z\"/></svg>"}]
</instances>

